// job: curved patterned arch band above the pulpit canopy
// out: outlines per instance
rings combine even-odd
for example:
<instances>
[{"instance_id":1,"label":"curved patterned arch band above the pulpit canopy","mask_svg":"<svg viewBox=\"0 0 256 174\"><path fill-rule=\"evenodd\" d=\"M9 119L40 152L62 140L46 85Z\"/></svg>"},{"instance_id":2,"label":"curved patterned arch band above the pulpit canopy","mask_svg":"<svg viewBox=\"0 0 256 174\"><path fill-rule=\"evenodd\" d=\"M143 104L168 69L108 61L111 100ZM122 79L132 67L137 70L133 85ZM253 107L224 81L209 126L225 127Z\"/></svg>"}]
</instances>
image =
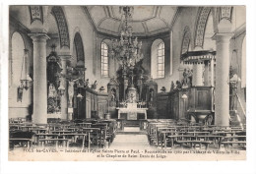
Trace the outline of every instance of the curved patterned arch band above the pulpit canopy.
<instances>
[{"instance_id":1,"label":"curved patterned arch band above the pulpit canopy","mask_svg":"<svg viewBox=\"0 0 256 174\"><path fill-rule=\"evenodd\" d=\"M210 12L211 7L204 7L199 9L195 33L195 47L199 46L203 48L205 29Z\"/></svg>"}]
</instances>

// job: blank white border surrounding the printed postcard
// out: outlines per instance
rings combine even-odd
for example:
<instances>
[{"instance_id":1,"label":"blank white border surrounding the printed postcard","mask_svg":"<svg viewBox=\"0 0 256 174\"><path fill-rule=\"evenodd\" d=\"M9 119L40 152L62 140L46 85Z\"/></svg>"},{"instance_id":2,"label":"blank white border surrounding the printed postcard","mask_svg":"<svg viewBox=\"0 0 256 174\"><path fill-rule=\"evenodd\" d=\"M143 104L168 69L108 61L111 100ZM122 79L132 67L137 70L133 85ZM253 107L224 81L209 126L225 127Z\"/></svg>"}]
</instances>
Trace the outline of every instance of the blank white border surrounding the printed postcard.
<instances>
[{"instance_id":1,"label":"blank white border surrounding the printed postcard","mask_svg":"<svg viewBox=\"0 0 256 174\"><path fill-rule=\"evenodd\" d=\"M256 29L256 1L255 0L215 0L215 1L202 1L202 0L179 0L179 1L167 1L167 0L147 0L136 1L130 0L125 3L130 5L246 5L247 11L247 160L245 161L154 161L154 162L14 162L8 161L8 33L9 33L9 5L23 5L23 4L40 4L40 5L81 5L86 3L87 5L119 5L122 1L29 1L23 0L16 2L14 0L7 0L2 2L0 0L0 50L1 50L1 117L0 117L0 133L1 133L1 166L0 173L2 174L35 174L35 173L54 173L54 174L76 174L76 173L104 173L104 174L120 174L120 173L147 173L147 174L160 174L160 173L218 173L218 174L255 174L256 173L256 114L255 114L255 29ZM171 4L170 4L171 3ZM123 4L123 3L122 3Z\"/></svg>"}]
</instances>

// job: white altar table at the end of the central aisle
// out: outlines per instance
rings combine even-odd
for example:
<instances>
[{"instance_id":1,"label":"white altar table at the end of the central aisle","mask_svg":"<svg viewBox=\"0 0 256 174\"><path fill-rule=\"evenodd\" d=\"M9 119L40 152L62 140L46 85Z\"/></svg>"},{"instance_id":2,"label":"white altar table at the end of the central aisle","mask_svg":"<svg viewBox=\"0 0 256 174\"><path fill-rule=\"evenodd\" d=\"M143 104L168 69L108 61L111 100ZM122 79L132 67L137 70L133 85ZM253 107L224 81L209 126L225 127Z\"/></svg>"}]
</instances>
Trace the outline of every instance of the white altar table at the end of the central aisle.
<instances>
[{"instance_id":1,"label":"white altar table at the end of the central aisle","mask_svg":"<svg viewBox=\"0 0 256 174\"><path fill-rule=\"evenodd\" d=\"M138 108L137 103L127 103L126 107L117 107L118 119L121 118L121 113L127 114L127 120L138 120L138 113L144 114L144 119L147 119L148 108Z\"/></svg>"}]
</instances>

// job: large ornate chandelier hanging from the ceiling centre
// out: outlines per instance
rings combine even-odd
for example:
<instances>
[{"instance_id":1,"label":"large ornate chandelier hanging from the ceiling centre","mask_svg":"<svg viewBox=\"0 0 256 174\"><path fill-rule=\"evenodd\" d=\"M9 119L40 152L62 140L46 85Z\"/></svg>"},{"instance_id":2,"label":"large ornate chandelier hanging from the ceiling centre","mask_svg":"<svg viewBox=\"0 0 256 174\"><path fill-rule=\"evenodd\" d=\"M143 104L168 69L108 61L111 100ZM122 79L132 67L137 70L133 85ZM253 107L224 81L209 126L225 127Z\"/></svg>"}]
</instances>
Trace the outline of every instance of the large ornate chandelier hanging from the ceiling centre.
<instances>
[{"instance_id":1,"label":"large ornate chandelier hanging from the ceiling centre","mask_svg":"<svg viewBox=\"0 0 256 174\"><path fill-rule=\"evenodd\" d=\"M123 67L133 69L135 64L143 59L141 51L142 41L132 35L132 27L129 22L132 19L134 8L131 6L119 7L121 14L120 40L112 39L110 57L117 60Z\"/></svg>"}]
</instances>

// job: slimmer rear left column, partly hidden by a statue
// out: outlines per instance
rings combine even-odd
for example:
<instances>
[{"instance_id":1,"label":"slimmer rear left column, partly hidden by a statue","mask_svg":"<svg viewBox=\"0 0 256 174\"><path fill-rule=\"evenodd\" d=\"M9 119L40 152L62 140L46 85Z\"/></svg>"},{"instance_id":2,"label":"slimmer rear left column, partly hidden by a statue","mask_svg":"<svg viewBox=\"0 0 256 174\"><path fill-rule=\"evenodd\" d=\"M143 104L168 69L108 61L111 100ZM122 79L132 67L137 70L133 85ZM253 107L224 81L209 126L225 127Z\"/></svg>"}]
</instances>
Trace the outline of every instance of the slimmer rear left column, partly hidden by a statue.
<instances>
[{"instance_id":1,"label":"slimmer rear left column, partly hidden by a statue","mask_svg":"<svg viewBox=\"0 0 256 174\"><path fill-rule=\"evenodd\" d=\"M61 60L62 74L67 74L67 60L70 59L70 55L59 55ZM61 120L68 120L68 83L66 78L61 78L61 85L65 87L65 92L61 96L60 107L61 107Z\"/></svg>"}]
</instances>

